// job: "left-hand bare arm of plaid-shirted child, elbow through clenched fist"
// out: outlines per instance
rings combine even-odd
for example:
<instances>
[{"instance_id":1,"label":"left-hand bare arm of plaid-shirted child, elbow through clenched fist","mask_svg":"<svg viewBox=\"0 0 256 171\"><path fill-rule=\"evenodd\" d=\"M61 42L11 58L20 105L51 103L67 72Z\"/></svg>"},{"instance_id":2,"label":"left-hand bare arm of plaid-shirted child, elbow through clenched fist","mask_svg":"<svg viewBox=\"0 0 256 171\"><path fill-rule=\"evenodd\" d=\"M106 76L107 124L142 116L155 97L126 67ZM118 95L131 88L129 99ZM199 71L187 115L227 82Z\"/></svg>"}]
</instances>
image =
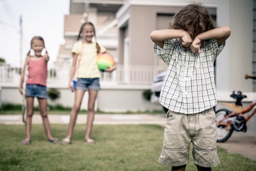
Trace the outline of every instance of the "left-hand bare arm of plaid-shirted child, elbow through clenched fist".
<instances>
[{"instance_id":1,"label":"left-hand bare arm of plaid-shirted child, elbow through clenched fist","mask_svg":"<svg viewBox=\"0 0 256 171\"><path fill-rule=\"evenodd\" d=\"M181 38L181 45L184 47L189 47L193 41L187 31L177 29L155 30L150 34L150 37L161 48L163 48L164 40L167 39Z\"/></svg>"}]
</instances>

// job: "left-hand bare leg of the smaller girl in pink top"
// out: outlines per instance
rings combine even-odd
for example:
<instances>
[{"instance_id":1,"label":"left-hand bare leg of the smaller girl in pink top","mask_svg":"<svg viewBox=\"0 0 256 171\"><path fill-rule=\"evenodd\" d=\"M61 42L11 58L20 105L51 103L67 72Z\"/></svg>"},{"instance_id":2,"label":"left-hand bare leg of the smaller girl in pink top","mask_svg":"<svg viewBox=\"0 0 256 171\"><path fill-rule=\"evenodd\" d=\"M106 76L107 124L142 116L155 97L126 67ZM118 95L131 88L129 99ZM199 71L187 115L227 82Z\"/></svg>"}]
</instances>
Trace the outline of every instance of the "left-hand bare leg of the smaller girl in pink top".
<instances>
[{"instance_id":1,"label":"left-hand bare leg of the smaller girl in pink top","mask_svg":"<svg viewBox=\"0 0 256 171\"><path fill-rule=\"evenodd\" d=\"M26 103L27 103L27 117L26 117L26 125L25 125L25 131L26 131L26 141L31 140L31 127L32 127L32 116L34 114L34 97L26 97Z\"/></svg>"}]
</instances>

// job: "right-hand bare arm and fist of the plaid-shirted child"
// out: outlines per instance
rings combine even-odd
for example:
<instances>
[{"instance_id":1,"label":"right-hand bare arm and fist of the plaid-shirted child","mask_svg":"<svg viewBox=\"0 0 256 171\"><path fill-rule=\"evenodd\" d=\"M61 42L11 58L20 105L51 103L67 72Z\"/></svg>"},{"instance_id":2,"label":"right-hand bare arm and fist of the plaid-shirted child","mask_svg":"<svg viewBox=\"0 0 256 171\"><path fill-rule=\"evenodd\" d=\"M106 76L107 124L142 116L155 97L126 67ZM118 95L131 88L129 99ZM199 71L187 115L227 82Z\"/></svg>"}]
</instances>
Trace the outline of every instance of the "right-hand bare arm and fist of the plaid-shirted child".
<instances>
[{"instance_id":1,"label":"right-hand bare arm and fist of the plaid-shirted child","mask_svg":"<svg viewBox=\"0 0 256 171\"><path fill-rule=\"evenodd\" d=\"M224 41L226 41L230 34L231 30L227 26L203 32L196 36L196 38L193 40L193 43L190 46L190 49L194 53L200 53L201 41L208 39L217 39L218 46L220 46L221 44L223 44Z\"/></svg>"}]
</instances>

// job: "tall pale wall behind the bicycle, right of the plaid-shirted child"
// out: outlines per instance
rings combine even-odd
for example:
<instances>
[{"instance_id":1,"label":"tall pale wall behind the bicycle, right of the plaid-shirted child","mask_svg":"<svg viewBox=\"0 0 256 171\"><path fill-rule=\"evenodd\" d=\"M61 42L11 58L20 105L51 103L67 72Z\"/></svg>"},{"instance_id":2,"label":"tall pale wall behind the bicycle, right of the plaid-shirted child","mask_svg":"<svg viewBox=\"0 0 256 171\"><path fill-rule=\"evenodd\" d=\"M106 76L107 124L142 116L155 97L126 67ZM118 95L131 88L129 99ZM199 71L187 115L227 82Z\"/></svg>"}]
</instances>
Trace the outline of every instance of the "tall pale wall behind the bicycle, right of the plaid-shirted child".
<instances>
[{"instance_id":1,"label":"tall pale wall behind the bicycle, right of the plaid-shirted child","mask_svg":"<svg viewBox=\"0 0 256 171\"><path fill-rule=\"evenodd\" d=\"M241 90L252 100L252 82L244 75L252 72L253 1L218 0L217 5L217 24L231 28L226 47L217 58L217 98L230 100L233 90Z\"/></svg>"}]
</instances>

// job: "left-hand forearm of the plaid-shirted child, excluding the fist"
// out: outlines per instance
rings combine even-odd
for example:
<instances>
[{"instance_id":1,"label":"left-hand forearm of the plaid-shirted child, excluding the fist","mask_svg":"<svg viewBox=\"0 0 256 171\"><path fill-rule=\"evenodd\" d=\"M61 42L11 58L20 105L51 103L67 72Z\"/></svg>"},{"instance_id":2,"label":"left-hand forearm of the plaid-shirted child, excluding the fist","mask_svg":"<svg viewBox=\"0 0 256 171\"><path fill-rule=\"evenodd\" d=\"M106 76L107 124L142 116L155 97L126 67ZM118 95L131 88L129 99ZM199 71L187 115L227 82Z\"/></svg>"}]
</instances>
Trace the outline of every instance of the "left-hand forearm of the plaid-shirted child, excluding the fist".
<instances>
[{"instance_id":1,"label":"left-hand forearm of the plaid-shirted child, excluding the fist","mask_svg":"<svg viewBox=\"0 0 256 171\"><path fill-rule=\"evenodd\" d=\"M155 30L151 33L151 39L154 42L164 41L167 39L180 38L184 35L184 30L165 29Z\"/></svg>"}]
</instances>

